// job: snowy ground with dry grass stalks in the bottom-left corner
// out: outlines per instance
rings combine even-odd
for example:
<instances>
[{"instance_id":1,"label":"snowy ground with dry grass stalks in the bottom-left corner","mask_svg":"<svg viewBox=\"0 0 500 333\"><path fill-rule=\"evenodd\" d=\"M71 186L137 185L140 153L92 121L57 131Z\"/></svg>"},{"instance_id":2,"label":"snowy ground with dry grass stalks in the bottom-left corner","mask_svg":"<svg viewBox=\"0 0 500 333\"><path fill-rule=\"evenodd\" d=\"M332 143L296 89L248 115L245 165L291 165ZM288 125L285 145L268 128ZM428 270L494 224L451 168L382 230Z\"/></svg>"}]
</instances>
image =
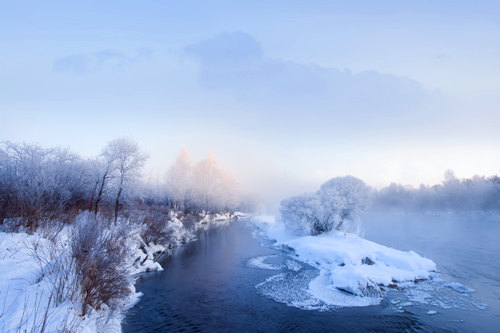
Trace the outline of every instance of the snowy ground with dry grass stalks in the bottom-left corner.
<instances>
[{"instance_id":1,"label":"snowy ground with dry grass stalks in the bottom-left corner","mask_svg":"<svg viewBox=\"0 0 500 333\"><path fill-rule=\"evenodd\" d=\"M0 233L0 331L1 332L119 332L121 315L104 307L80 316L76 297L59 298L60 274L52 267L65 266L65 246L54 247L41 235ZM74 281L68 273L67 290ZM130 288L134 291L134 286ZM126 300L134 304L137 294Z\"/></svg>"}]
</instances>

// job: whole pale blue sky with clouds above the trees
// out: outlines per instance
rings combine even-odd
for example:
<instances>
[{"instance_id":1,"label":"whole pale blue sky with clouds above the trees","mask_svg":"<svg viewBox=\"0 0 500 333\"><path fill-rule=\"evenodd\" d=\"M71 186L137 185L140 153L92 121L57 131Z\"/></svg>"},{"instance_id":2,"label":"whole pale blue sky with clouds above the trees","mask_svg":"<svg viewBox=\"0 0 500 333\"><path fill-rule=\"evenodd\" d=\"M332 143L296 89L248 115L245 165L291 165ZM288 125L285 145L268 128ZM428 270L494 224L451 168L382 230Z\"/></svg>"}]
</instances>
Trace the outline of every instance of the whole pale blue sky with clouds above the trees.
<instances>
[{"instance_id":1,"label":"whole pale blue sky with clouds above the trees","mask_svg":"<svg viewBox=\"0 0 500 333\"><path fill-rule=\"evenodd\" d=\"M498 1L0 1L0 141L212 150L269 197L498 174L499 77Z\"/></svg>"}]
</instances>

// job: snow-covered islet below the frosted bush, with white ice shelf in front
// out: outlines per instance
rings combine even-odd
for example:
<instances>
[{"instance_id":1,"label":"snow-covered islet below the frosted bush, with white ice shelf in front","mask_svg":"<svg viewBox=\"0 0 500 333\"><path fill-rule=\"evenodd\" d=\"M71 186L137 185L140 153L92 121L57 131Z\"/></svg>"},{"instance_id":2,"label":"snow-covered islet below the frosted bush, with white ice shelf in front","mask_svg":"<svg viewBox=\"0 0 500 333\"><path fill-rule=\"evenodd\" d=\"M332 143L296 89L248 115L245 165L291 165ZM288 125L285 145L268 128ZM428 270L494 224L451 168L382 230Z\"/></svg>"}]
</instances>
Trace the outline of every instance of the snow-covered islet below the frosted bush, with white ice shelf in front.
<instances>
[{"instance_id":1,"label":"snow-covered islet below the frosted bush, with white ice shelf in front","mask_svg":"<svg viewBox=\"0 0 500 333\"><path fill-rule=\"evenodd\" d=\"M384 291L430 279L436 265L415 252L399 251L353 234L331 231L318 236L295 236L273 217L252 223L273 247L319 270L307 292L314 303L327 306L378 304Z\"/></svg>"}]
</instances>

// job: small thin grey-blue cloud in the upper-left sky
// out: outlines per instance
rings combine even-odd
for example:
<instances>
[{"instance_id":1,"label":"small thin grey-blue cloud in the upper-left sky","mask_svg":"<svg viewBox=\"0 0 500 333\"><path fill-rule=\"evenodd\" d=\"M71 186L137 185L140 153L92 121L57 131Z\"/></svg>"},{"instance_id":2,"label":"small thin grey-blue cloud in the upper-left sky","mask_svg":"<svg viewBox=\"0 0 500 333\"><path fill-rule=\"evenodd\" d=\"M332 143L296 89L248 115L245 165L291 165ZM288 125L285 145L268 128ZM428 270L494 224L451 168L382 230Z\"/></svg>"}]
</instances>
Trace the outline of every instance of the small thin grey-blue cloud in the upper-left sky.
<instances>
[{"instance_id":1,"label":"small thin grey-blue cloud in the upper-left sky","mask_svg":"<svg viewBox=\"0 0 500 333\"><path fill-rule=\"evenodd\" d=\"M150 55L151 50L146 48L137 49L132 55L110 49L89 54L71 54L56 59L53 70L70 74L87 74L97 72L103 68L130 67Z\"/></svg>"}]
</instances>

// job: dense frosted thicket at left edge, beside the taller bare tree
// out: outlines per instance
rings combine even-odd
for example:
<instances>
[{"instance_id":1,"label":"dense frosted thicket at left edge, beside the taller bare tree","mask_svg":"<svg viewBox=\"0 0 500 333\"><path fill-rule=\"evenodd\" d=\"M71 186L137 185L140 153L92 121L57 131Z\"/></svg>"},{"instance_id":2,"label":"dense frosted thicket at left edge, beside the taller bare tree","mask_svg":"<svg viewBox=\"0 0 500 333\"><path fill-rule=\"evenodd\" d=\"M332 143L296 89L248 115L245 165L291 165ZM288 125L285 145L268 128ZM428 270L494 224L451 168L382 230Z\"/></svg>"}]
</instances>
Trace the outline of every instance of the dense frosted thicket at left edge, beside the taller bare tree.
<instances>
[{"instance_id":1,"label":"dense frosted thicket at left edge, beside the taller bare tree","mask_svg":"<svg viewBox=\"0 0 500 333\"><path fill-rule=\"evenodd\" d=\"M66 149L4 142L0 146L2 218L20 219L34 232L41 219L63 214L88 199L83 161Z\"/></svg>"}]
</instances>

